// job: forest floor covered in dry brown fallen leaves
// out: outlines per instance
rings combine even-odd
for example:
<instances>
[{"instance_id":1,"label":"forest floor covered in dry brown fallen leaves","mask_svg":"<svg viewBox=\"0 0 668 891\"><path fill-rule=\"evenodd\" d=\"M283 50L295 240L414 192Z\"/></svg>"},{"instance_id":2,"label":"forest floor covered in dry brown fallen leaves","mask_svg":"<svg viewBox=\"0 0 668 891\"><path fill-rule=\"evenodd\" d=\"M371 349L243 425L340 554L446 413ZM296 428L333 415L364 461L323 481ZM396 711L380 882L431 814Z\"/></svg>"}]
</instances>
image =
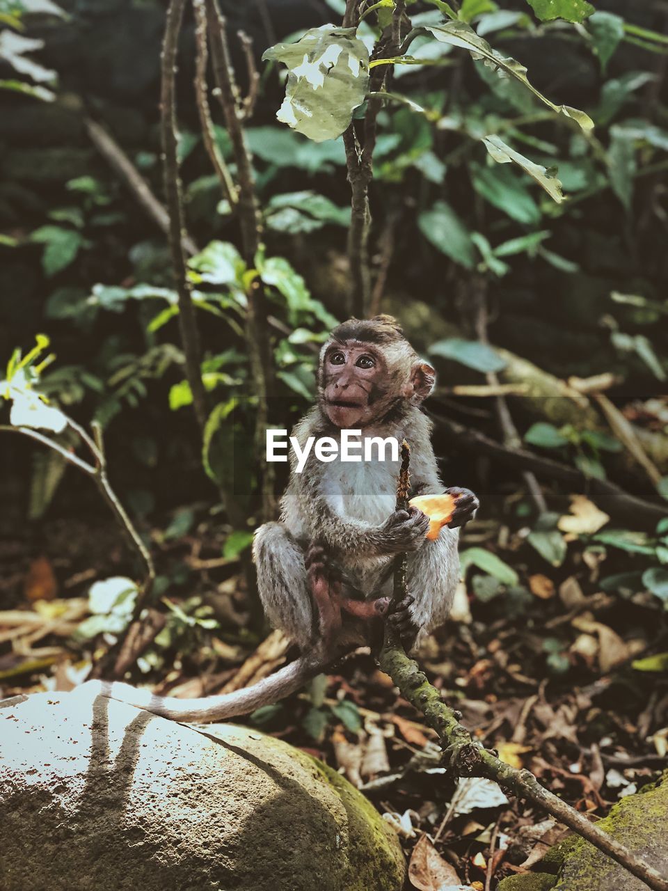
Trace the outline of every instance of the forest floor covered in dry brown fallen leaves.
<instances>
[{"instance_id":1,"label":"forest floor covered in dry brown fallen leaves","mask_svg":"<svg viewBox=\"0 0 668 891\"><path fill-rule=\"evenodd\" d=\"M183 535L184 511L191 529ZM221 558L225 532L216 518L195 504L169 524L145 524L143 532L155 549L159 593L176 611L167 610L167 625L139 660L145 676L134 670L133 682L197 696L253 683L290 658L281 634L263 642L248 632L240 563ZM552 568L526 544L517 517L469 524L461 550L471 547L495 552L517 584L469 573L468 593L462 584L451 619L417 658L485 746L591 819L604 816L665 765L668 679L633 667L667 649L657 601L601 591L603 564L605 575L628 571L633 555L575 542ZM0 557L0 697L45 684L69 689L86 674L94 642L105 640L86 634L88 589L131 574L118 529L99 516L49 519L5 537ZM465 883L482 891L489 873L493 888L566 834L488 781L455 784L436 734L368 650L241 720L322 758L363 790L399 832L411 860L407 887Z\"/></svg>"}]
</instances>

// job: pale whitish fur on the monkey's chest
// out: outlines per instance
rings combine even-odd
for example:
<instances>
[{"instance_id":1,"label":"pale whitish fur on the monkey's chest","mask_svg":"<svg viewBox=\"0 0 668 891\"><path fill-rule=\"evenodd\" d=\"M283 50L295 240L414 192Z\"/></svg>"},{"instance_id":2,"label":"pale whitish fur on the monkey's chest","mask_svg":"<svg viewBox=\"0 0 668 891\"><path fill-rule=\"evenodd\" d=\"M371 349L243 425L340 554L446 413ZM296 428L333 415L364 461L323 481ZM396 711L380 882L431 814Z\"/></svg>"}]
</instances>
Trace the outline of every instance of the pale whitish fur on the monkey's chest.
<instances>
[{"instance_id":1,"label":"pale whitish fur on the monkey's chest","mask_svg":"<svg viewBox=\"0 0 668 891\"><path fill-rule=\"evenodd\" d=\"M395 510L399 462L332 462L324 471L323 495L348 520L379 526Z\"/></svg>"}]
</instances>

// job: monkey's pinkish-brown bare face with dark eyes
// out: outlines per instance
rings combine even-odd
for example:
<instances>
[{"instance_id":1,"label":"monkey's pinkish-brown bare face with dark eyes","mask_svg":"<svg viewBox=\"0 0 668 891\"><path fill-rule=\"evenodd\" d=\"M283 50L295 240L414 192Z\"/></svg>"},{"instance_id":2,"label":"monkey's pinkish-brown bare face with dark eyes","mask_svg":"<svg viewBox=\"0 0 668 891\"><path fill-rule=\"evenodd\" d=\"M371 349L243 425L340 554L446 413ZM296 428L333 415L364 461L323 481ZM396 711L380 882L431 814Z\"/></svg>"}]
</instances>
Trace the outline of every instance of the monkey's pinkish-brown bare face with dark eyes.
<instances>
[{"instance_id":1,"label":"monkey's pinkish-brown bare face with dark eyes","mask_svg":"<svg viewBox=\"0 0 668 891\"><path fill-rule=\"evenodd\" d=\"M369 424L384 401L387 369L365 343L334 343L322 363L322 408L339 429Z\"/></svg>"}]
</instances>

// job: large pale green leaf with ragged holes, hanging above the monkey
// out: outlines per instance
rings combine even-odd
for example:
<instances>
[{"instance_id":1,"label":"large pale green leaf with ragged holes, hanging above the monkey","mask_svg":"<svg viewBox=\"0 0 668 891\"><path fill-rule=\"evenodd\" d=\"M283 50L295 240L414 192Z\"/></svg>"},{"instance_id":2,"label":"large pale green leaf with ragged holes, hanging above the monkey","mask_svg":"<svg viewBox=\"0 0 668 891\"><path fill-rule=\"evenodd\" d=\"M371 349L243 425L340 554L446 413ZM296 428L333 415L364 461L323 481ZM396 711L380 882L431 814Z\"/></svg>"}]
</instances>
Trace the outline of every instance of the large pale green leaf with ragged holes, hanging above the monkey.
<instances>
[{"instance_id":1,"label":"large pale green leaf with ragged holes, hanging above the monkey","mask_svg":"<svg viewBox=\"0 0 668 891\"><path fill-rule=\"evenodd\" d=\"M289 69L276 117L316 143L346 129L369 85L369 51L354 28L322 25L294 44L276 44L262 56Z\"/></svg>"}]
</instances>

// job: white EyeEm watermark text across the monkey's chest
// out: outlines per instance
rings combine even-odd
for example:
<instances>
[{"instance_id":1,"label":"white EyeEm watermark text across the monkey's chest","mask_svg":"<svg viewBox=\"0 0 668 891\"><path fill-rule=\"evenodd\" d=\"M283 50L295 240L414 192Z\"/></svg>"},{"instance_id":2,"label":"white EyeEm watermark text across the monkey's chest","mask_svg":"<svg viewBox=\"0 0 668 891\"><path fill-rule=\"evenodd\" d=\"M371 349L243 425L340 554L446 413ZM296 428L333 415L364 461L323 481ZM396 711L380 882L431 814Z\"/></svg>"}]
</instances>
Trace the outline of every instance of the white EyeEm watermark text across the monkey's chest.
<instances>
[{"instance_id":1,"label":"white EyeEm watermark text across the monkey's chest","mask_svg":"<svg viewBox=\"0 0 668 891\"><path fill-rule=\"evenodd\" d=\"M395 437L366 437L363 441L354 437L361 437L362 430L341 430L340 442L334 437L308 437L304 448L299 445L297 437L289 437L287 430L269 429L266 431L266 460L288 461L288 455L282 454L291 446L297 457L297 473L305 468L306 459L314 450L318 461L328 463L336 461L360 462L360 461L399 461L399 440ZM389 458L387 448L389 447ZM376 453L374 456L374 452Z\"/></svg>"}]
</instances>

